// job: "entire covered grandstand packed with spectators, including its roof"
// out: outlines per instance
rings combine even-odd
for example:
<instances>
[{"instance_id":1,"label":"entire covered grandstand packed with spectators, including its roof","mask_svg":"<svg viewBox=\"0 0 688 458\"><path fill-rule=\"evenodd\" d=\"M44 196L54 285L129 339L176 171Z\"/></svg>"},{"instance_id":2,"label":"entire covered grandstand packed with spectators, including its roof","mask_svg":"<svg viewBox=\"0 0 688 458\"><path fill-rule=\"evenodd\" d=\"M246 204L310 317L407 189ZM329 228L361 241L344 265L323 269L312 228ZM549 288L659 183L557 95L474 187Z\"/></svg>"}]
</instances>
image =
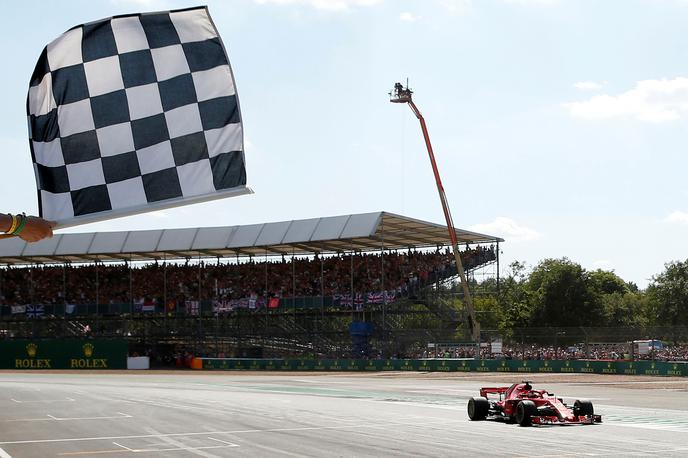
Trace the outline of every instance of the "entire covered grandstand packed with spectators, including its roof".
<instances>
[{"instance_id":1,"label":"entire covered grandstand packed with spectators, including its roof","mask_svg":"<svg viewBox=\"0 0 688 458\"><path fill-rule=\"evenodd\" d=\"M470 276L499 243L457 229ZM125 337L153 361L403 356L456 337L445 226L388 212L0 241L0 336Z\"/></svg>"}]
</instances>

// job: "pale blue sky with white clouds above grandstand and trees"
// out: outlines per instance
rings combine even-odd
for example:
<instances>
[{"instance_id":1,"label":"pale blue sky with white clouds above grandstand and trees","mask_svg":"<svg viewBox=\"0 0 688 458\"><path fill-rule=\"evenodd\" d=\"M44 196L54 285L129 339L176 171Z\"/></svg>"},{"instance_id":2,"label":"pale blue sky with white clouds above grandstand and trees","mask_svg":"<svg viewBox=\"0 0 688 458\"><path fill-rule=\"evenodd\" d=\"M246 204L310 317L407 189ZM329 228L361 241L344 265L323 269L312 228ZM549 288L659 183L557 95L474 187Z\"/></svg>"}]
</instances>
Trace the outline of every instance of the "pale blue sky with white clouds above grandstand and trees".
<instances>
[{"instance_id":1,"label":"pale blue sky with white clouds above grandstand and trees","mask_svg":"<svg viewBox=\"0 0 688 458\"><path fill-rule=\"evenodd\" d=\"M645 287L688 258L687 0L207 4L235 74L255 193L64 231L381 210L442 223L418 122L388 101L408 78L456 226L503 237L503 266L566 256ZM38 211L25 101L43 47L84 22L196 5L3 6L1 211Z\"/></svg>"}]
</instances>

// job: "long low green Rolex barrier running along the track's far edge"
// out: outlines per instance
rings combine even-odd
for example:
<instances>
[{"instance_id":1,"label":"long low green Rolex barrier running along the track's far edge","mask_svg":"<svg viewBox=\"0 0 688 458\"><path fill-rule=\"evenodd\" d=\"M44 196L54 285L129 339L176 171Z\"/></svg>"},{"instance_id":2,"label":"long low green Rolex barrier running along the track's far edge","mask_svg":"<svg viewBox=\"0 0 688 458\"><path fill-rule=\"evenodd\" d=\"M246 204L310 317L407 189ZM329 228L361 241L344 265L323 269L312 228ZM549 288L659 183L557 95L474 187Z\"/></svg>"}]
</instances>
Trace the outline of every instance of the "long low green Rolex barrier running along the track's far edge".
<instances>
[{"instance_id":1,"label":"long low green Rolex barrier running along the track's far edge","mask_svg":"<svg viewBox=\"0 0 688 458\"><path fill-rule=\"evenodd\" d=\"M516 372L688 376L688 363L664 361L539 361L457 359L230 359L195 358L192 367L205 370L331 371L331 372Z\"/></svg>"}]
</instances>

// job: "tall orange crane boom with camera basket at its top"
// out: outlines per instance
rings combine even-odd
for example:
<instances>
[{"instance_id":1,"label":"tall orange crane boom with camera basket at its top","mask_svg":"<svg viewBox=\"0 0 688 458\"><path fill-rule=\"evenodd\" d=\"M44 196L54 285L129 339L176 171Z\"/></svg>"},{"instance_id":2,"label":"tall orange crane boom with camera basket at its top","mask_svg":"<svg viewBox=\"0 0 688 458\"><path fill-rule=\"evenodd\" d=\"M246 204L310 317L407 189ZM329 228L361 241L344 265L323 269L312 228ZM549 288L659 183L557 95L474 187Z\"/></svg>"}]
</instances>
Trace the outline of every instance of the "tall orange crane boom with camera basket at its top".
<instances>
[{"instance_id":1,"label":"tall orange crane boom with camera basket at its top","mask_svg":"<svg viewBox=\"0 0 688 458\"><path fill-rule=\"evenodd\" d=\"M430 135L428 134L428 127L425 124L425 118L421 114L420 110L413 103L411 98L411 91L408 88L403 87L401 83L396 83L394 85L394 90L390 93L390 101L394 103L408 103L413 114L416 115L418 121L420 122L420 128L423 131L423 138L425 139L425 146L428 149L428 156L430 157L430 164L432 165L432 172L435 175L435 183L437 184L437 192L440 195L440 202L442 203L442 211L444 212L444 219L447 221L447 231L449 232L449 240L451 241L452 251L454 252L454 260L456 261L456 270L461 278L461 286L463 287L463 296L466 303L466 310L468 311L468 326L471 330L471 335L475 342L480 342L480 323L476 318L475 308L473 307L473 300L471 299L471 292L468 288L468 282L466 281L466 271L463 268L463 263L461 262L461 256L459 254L459 241L456 236L456 229L454 228L454 221L452 220L451 211L449 210L449 203L447 202L447 195L444 192L444 186L442 186L442 179L440 178L440 172L437 167L437 162L435 161L435 153L432 150L432 144L430 143Z\"/></svg>"}]
</instances>

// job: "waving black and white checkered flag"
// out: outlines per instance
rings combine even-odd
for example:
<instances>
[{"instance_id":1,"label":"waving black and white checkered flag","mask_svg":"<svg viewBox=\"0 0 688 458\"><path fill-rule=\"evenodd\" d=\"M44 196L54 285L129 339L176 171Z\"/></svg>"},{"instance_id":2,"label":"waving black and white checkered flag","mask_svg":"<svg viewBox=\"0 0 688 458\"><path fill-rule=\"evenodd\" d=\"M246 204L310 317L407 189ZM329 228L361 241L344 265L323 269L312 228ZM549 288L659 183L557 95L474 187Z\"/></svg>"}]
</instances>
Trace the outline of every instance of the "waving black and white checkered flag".
<instances>
[{"instance_id":1,"label":"waving black and white checkered flag","mask_svg":"<svg viewBox=\"0 0 688 458\"><path fill-rule=\"evenodd\" d=\"M234 79L204 7L67 31L38 60L27 115L44 218L134 213L246 184Z\"/></svg>"}]
</instances>

